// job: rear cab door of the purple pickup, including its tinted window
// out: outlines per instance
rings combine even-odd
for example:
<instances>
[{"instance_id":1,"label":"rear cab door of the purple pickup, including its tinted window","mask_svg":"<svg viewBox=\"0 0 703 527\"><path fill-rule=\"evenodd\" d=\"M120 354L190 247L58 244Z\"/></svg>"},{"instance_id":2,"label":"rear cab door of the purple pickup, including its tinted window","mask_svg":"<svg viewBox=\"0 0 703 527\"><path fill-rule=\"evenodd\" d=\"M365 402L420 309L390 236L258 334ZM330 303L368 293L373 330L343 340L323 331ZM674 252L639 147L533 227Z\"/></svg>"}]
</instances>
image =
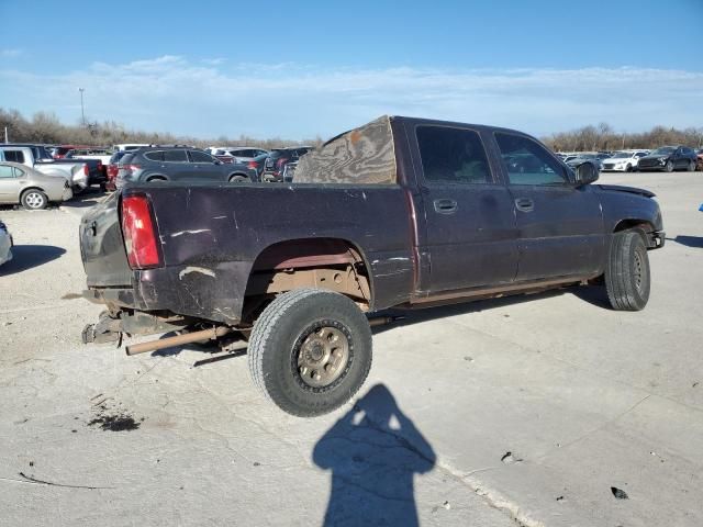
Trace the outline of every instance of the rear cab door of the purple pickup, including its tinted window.
<instances>
[{"instance_id":1,"label":"rear cab door of the purple pickup, including its tinted window","mask_svg":"<svg viewBox=\"0 0 703 527\"><path fill-rule=\"evenodd\" d=\"M423 289L432 294L512 282L517 269L513 203L481 134L462 126L411 126L426 233L419 249L429 257Z\"/></svg>"}]
</instances>

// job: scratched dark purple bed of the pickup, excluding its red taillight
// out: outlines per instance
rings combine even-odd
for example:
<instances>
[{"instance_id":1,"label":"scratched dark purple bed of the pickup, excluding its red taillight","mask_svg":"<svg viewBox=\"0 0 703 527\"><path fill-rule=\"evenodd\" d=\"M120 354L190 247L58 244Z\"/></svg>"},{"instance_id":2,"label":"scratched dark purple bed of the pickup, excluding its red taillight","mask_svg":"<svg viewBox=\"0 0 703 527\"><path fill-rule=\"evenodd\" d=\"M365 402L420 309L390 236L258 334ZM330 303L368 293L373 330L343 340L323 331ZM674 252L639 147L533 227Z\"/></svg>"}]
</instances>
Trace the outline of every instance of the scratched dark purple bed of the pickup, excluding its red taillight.
<instances>
[{"instance_id":1,"label":"scratched dark purple bed of the pickup, excluding its red taillight","mask_svg":"<svg viewBox=\"0 0 703 527\"><path fill-rule=\"evenodd\" d=\"M163 267L132 270L120 226L122 197L146 195L157 222ZM364 258L375 283L371 309L413 290L412 225L395 184L178 183L129 187L80 226L88 287L96 299L236 323L261 253L279 243L342 239Z\"/></svg>"}]
</instances>

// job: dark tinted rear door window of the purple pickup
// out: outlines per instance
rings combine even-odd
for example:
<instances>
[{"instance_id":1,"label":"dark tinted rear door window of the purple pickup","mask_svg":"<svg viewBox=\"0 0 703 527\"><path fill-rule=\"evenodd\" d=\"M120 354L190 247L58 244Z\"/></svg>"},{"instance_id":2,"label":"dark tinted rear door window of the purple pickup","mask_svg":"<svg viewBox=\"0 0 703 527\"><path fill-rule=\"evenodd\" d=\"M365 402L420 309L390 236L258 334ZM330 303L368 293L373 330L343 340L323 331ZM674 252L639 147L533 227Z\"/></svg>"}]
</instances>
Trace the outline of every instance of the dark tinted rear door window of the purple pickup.
<instances>
[{"instance_id":1,"label":"dark tinted rear door window of the purple pickup","mask_svg":"<svg viewBox=\"0 0 703 527\"><path fill-rule=\"evenodd\" d=\"M428 182L492 183L486 149L472 130L417 126L422 169Z\"/></svg>"}]
</instances>

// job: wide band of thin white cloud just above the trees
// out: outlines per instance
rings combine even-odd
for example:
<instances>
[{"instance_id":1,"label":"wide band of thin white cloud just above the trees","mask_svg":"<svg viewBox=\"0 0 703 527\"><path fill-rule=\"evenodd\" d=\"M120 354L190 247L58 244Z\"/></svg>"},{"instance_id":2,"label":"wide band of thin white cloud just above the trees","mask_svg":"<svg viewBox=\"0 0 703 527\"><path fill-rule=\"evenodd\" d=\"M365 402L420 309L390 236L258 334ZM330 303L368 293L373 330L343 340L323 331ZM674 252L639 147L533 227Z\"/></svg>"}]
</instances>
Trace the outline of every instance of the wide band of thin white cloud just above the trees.
<instances>
[{"instance_id":1,"label":"wide band of thin white cloud just above the trees","mask_svg":"<svg viewBox=\"0 0 703 527\"><path fill-rule=\"evenodd\" d=\"M23 113L76 122L82 87L93 120L201 137L326 137L383 113L538 135L601 121L627 131L703 125L703 74L637 67L352 69L163 56L52 76L5 69L0 86L3 104Z\"/></svg>"}]
</instances>

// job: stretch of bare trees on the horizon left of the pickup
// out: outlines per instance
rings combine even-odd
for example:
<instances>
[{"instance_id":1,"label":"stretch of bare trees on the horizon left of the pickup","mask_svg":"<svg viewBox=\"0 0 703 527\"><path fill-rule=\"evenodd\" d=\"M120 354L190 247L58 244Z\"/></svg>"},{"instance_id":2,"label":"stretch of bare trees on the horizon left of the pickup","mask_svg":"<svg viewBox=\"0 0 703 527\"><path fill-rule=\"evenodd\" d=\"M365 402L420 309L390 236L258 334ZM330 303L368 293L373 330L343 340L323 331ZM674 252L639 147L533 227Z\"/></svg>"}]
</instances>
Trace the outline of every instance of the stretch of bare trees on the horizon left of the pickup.
<instances>
[{"instance_id":1,"label":"stretch of bare trees on the horizon left of the pickup","mask_svg":"<svg viewBox=\"0 0 703 527\"><path fill-rule=\"evenodd\" d=\"M11 143L82 146L111 146L120 143L146 143L161 145L183 144L199 147L207 147L210 145L247 145L267 149L303 144L299 141L282 139L280 137L260 139L248 137L246 135L239 135L238 137L221 135L219 137L203 139L169 133L127 130L122 124L114 121L104 121L102 123L88 122L85 125L69 125L62 123L53 113L37 112L31 119L26 119L16 110L0 108L0 142L4 141L5 126L8 130L8 138ZM316 137L304 143L316 146L322 144L322 139Z\"/></svg>"}]
</instances>

